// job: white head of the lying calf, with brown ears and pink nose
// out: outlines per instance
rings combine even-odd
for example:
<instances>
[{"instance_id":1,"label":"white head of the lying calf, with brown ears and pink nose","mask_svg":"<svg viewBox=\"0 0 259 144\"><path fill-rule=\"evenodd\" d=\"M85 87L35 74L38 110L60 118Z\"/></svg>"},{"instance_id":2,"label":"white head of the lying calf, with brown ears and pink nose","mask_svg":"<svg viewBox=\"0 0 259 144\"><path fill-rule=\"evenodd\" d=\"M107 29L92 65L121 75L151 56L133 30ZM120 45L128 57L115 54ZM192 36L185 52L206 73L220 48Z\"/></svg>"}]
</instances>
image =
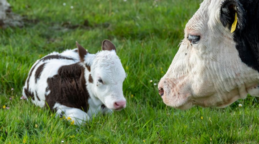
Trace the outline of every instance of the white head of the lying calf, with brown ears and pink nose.
<instances>
[{"instance_id":1,"label":"white head of the lying calf, with brown ears and pink nose","mask_svg":"<svg viewBox=\"0 0 259 144\"><path fill-rule=\"evenodd\" d=\"M102 51L96 54L88 53L78 43L77 48L85 66L86 87L94 103L104 104L113 110L125 108L122 84L126 75L113 43L104 40Z\"/></svg>"}]
</instances>

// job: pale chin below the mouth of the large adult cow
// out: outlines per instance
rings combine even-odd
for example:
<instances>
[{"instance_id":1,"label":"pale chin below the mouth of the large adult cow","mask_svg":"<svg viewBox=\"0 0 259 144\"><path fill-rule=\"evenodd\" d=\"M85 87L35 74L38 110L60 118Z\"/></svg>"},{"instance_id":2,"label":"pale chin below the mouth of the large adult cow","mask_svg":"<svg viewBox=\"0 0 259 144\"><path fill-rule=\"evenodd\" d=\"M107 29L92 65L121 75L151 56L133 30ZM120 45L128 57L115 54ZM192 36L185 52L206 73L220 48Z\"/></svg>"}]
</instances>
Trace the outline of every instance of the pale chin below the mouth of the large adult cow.
<instances>
[{"instance_id":1,"label":"pale chin below the mouth of the large adult cow","mask_svg":"<svg viewBox=\"0 0 259 144\"><path fill-rule=\"evenodd\" d=\"M193 107L193 103L189 101L188 97L176 98L174 96L164 95L162 99L167 106L170 106L176 109L187 110Z\"/></svg>"}]
</instances>

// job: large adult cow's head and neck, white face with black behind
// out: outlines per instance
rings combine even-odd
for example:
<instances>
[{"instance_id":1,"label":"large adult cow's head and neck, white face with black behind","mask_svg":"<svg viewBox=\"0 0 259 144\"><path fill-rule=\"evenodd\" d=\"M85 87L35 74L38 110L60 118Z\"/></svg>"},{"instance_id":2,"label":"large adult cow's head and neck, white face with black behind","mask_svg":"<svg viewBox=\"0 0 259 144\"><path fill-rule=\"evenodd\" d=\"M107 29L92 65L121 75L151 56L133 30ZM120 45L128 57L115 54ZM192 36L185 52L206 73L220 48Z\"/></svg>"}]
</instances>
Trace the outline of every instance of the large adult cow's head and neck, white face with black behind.
<instances>
[{"instance_id":1,"label":"large adult cow's head and neck, white face with black behind","mask_svg":"<svg viewBox=\"0 0 259 144\"><path fill-rule=\"evenodd\" d=\"M235 12L237 29L230 33ZM225 107L247 93L259 96L259 44L249 47L250 38L241 37L243 31L250 31L245 16L238 1L203 1L186 24L180 48L159 82L166 105L179 109ZM249 48L254 53L242 53Z\"/></svg>"}]
</instances>

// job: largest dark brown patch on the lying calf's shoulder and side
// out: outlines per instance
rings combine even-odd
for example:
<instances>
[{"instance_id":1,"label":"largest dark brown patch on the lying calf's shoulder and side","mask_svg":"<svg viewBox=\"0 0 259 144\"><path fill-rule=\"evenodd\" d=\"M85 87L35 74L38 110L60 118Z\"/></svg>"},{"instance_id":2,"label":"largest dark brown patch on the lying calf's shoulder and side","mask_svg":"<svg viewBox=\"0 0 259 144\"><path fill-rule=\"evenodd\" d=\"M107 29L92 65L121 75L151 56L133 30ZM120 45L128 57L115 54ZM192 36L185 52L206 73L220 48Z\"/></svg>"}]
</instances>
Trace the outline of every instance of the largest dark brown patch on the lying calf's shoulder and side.
<instances>
[{"instance_id":1,"label":"largest dark brown patch on the lying calf's shoulder and side","mask_svg":"<svg viewBox=\"0 0 259 144\"><path fill-rule=\"evenodd\" d=\"M60 67L58 74L48 78L47 83L50 93L45 101L52 111L55 103L87 111L89 94L84 68L79 63Z\"/></svg>"}]
</instances>

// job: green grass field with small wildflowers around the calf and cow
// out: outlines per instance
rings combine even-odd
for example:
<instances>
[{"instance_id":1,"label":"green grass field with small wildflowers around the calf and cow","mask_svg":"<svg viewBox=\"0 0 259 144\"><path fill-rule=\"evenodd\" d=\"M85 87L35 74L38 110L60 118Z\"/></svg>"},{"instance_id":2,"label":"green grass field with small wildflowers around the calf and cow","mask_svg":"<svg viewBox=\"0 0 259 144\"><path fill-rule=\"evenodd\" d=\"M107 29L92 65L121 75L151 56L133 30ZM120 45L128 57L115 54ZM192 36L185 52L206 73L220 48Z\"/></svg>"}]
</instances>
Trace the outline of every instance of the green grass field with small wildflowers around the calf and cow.
<instances>
[{"instance_id":1,"label":"green grass field with small wildflowers around the calf and cow","mask_svg":"<svg viewBox=\"0 0 259 144\"><path fill-rule=\"evenodd\" d=\"M223 109L181 111L165 106L154 86L171 64L200 0L9 3L26 26L0 30L0 143L259 143L256 98L248 96ZM128 74L125 109L77 127L20 100L37 59L75 48L75 41L95 53L103 39L117 46Z\"/></svg>"}]
</instances>

